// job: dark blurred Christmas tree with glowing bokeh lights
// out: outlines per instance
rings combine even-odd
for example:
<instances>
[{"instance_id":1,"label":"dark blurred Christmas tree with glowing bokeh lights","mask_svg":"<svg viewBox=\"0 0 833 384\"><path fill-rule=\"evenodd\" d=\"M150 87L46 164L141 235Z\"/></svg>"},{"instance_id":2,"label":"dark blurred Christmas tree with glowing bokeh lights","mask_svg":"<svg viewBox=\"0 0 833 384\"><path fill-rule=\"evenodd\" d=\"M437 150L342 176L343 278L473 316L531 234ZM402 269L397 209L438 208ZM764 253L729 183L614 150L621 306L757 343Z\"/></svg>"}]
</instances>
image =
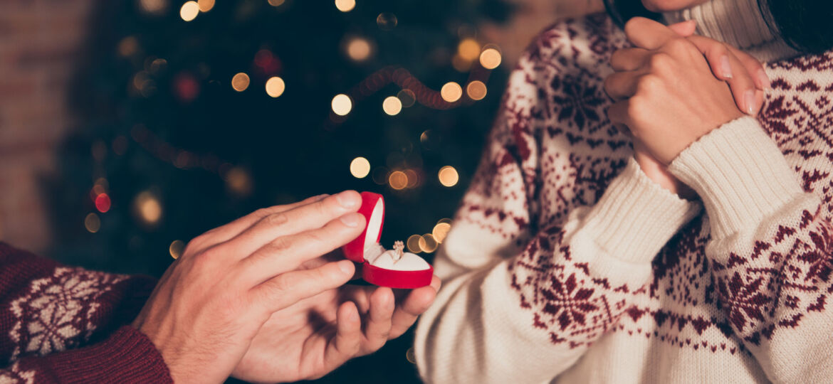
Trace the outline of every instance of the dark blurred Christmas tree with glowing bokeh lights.
<instances>
[{"instance_id":1,"label":"dark blurred Christmas tree with glowing bokeh lights","mask_svg":"<svg viewBox=\"0 0 833 384\"><path fill-rule=\"evenodd\" d=\"M384 194L382 242L408 239L430 258L506 81L476 28L506 17L502 2L97 8L70 95L76 129L50 180L54 258L159 275L207 229L346 189ZM409 338L323 381L413 376Z\"/></svg>"}]
</instances>

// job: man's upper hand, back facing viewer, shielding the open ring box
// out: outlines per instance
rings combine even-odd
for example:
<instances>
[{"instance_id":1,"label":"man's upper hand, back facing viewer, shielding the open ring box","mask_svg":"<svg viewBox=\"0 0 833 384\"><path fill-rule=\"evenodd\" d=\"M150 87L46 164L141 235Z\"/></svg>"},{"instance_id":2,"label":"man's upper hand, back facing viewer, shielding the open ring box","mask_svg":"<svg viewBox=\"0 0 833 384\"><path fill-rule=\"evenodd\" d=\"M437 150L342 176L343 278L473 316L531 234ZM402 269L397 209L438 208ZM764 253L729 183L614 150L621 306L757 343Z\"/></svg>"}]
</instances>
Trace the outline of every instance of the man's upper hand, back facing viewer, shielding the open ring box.
<instances>
[{"instance_id":1,"label":"man's upper hand, back facing viewer, shielding the open ring box","mask_svg":"<svg viewBox=\"0 0 833 384\"><path fill-rule=\"evenodd\" d=\"M298 303L332 294L352 278L349 260L304 264L362 232L365 219L355 213L360 204L359 194L347 191L261 209L198 236L168 268L133 327L156 345L175 382L223 382L270 318L282 318L284 327L314 323L297 311ZM330 303L333 327L323 357L343 361L356 349L361 321L352 303ZM298 316L283 314L287 308ZM270 381L296 377L274 373Z\"/></svg>"}]
</instances>

